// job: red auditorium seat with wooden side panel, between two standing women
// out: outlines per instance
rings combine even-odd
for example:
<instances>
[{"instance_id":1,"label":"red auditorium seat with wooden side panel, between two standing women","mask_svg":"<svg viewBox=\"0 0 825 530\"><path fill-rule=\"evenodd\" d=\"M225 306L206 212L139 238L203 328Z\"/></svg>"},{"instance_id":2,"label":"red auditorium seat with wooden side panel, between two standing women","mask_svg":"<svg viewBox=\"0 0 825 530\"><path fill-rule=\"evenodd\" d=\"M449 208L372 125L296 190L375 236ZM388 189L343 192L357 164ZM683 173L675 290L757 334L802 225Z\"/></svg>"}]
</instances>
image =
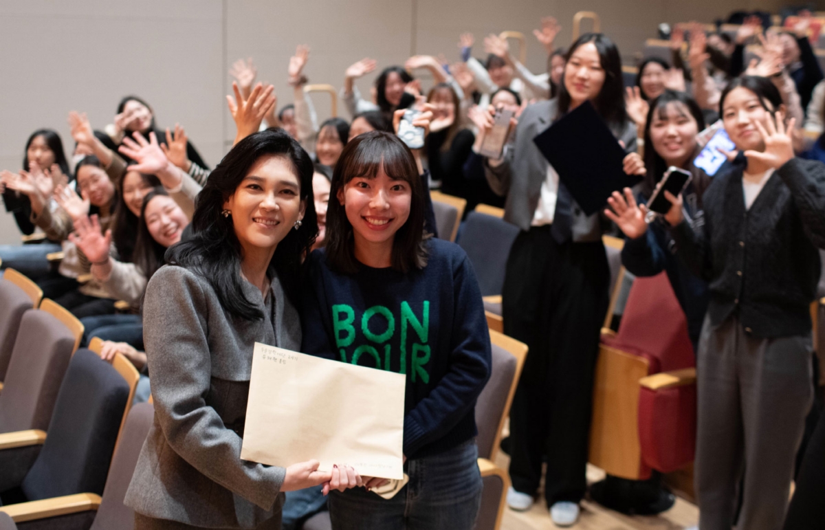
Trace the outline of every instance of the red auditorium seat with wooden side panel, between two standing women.
<instances>
[{"instance_id":1,"label":"red auditorium seat with wooden side panel, between two standing women","mask_svg":"<svg viewBox=\"0 0 825 530\"><path fill-rule=\"evenodd\" d=\"M593 391L590 461L642 480L693 460L695 355L667 275L637 277L618 333L602 334Z\"/></svg>"}]
</instances>

